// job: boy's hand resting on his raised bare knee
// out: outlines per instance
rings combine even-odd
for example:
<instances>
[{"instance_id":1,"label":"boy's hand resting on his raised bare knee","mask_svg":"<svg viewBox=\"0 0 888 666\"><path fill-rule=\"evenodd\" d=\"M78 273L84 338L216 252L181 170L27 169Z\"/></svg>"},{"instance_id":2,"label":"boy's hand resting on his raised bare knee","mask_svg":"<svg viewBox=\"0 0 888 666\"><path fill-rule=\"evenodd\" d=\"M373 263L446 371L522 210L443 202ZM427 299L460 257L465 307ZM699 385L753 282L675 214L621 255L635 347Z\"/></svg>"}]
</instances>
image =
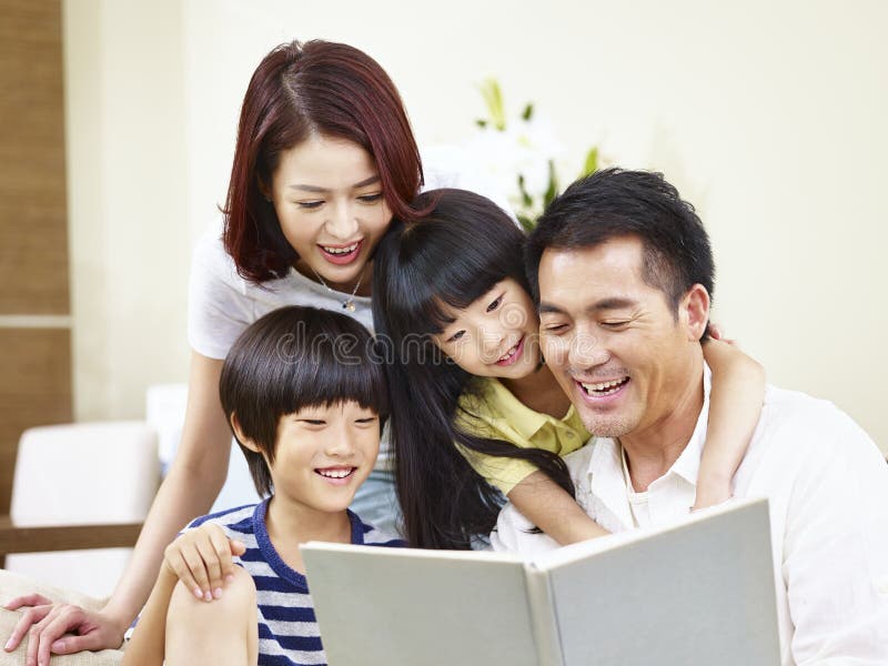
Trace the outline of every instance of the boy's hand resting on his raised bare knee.
<instances>
[{"instance_id":1,"label":"boy's hand resting on his raised bare knee","mask_svg":"<svg viewBox=\"0 0 888 666\"><path fill-rule=\"evenodd\" d=\"M205 602L222 596L222 586L234 573L232 556L246 551L230 541L219 525L204 523L180 535L163 552L163 566Z\"/></svg>"}]
</instances>

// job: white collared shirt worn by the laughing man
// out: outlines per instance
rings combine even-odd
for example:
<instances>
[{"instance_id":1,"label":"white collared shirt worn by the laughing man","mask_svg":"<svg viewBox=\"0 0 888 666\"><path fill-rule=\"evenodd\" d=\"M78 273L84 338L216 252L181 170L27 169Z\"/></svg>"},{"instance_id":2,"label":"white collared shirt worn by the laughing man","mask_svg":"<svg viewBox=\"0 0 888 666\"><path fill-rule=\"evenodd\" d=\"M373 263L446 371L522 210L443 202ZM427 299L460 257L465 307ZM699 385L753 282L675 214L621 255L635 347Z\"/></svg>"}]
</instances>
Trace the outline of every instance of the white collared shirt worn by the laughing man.
<instances>
[{"instance_id":1,"label":"white collared shirt worn by the laughing man","mask_svg":"<svg viewBox=\"0 0 888 666\"><path fill-rule=\"evenodd\" d=\"M627 484L623 448L597 438L565 457L577 502L609 532L660 527L694 504L709 411L647 492ZM769 386L735 497L768 497L784 664L888 664L888 465L867 434L827 401ZM511 504L491 543L527 554L557 544ZM594 591L592 591L594 594Z\"/></svg>"}]
</instances>

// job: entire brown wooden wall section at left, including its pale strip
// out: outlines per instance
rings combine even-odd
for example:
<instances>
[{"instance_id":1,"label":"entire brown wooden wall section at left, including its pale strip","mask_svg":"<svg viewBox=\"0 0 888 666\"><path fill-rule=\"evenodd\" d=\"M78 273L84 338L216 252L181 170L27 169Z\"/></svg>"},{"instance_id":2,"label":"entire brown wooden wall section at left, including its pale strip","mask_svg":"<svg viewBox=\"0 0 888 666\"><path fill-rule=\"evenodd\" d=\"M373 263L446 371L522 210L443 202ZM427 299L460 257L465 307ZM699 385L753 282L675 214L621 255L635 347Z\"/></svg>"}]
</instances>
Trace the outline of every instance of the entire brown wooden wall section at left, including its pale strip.
<instances>
[{"instance_id":1,"label":"entire brown wooden wall section at left, including its pale strip","mask_svg":"<svg viewBox=\"0 0 888 666\"><path fill-rule=\"evenodd\" d=\"M0 515L22 431L72 417L65 208L61 1L0 0Z\"/></svg>"}]
</instances>

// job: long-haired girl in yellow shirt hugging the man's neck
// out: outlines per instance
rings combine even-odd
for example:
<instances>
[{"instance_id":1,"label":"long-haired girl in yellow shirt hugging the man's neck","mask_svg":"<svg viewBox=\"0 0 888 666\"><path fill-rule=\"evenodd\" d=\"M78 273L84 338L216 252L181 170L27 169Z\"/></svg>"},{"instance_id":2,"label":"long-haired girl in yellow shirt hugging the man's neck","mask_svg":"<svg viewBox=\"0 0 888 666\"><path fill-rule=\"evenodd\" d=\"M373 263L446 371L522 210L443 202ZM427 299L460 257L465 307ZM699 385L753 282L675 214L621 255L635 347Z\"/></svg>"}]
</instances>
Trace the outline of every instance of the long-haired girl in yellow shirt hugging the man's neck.
<instances>
[{"instance_id":1,"label":"long-haired girl in yellow shirt hugging the man's neck","mask_svg":"<svg viewBox=\"0 0 888 666\"><path fill-rule=\"evenodd\" d=\"M427 192L414 205L431 212L395 223L380 243L373 302L389 345L395 475L411 545L471 547L494 525L501 493L561 544L604 534L574 502L561 458L589 433L542 362L524 235L471 192ZM704 350L713 417L697 507L729 497L765 390L761 367L737 350L717 341Z\"/></svg>"}]
</instances>

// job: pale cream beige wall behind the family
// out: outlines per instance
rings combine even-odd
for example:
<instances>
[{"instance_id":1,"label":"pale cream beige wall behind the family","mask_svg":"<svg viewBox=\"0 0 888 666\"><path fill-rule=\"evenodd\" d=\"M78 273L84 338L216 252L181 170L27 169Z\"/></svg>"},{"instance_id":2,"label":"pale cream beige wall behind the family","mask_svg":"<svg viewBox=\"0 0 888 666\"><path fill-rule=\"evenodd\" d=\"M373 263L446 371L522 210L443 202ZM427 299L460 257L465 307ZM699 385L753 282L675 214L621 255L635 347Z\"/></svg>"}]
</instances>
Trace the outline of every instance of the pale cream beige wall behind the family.
<instances>
[{"instance_id":1,"label":"pale cream beige wall behind the family","mask_svg":"<svg viewBox=\"0 0 888 666\"><path fill-rule=\"evenodd\" d=\"M323 37L387 69L421 143L466 139L495 75L577 159L597 142L664 171L712 233L717 320L888 451L885 2L68 0L65 19L79 416L138 415L147 384L184 380L189 248L250 73Z\"/></svg>"}]
</instances>

